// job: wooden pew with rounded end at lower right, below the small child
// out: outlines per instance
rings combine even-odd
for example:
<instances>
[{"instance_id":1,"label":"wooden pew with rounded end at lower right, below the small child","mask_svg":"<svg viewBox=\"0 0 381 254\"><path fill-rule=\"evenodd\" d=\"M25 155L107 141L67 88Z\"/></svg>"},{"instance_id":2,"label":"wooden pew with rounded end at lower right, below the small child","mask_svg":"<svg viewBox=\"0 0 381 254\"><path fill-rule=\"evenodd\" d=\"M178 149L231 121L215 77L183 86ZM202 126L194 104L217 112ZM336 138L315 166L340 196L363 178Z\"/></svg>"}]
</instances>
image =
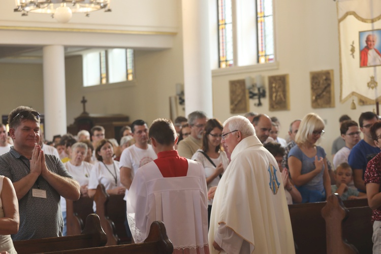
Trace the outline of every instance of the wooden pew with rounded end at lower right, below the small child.
<instances>
[{"instance_id":1,"label":"wooden pew with rounded end at lower right, below the small child","mask_svg":"<svg viewBox=\"0 0 381 254\"><path fill-rule=\"evenodd\" d=\"M371 215L369 206L346 208L337 194L331 195L322 209L327 253L372 253Z\"/></svg>"}]
</instances>

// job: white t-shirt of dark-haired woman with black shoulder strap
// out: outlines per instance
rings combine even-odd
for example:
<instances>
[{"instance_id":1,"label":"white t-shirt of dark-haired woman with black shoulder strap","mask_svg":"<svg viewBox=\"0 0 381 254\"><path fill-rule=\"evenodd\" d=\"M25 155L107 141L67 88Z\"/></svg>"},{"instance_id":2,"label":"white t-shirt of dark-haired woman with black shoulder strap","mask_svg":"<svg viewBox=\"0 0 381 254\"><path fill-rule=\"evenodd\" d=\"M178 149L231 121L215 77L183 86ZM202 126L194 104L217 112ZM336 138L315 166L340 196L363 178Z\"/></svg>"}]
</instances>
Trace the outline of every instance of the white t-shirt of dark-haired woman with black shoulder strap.
<instances>
[{"instance_id":1,"label":"white t-shirt of dark-haired woman with black shoulder strap","mask_svg":"<svg viewBox=\"0 0 381 254\"><path fill-rule=\"evenodd\" d=\"M195 154L193 154L192 160L197 161L197 162L202 164L202 166L205 169L205 177L208 178L209 176L211 176L214 173L215 167L209 162L209 160L205 157L205 155L199 151L202 151L202 150L198 149L195 152ZM226 152L224 152L224 151L220 151L218 158L210 158L210 160L212 160L212 162L214 163L215 166L218 166L220 163L222 163L224 166L224 171L226 170L226 168L229 165L228 156L226 155ZM219 180L220 180L219 176L214 178L208 184L208 190L210 187L217 186ZM212 205L212 204L213 204L213 200L208 200L208 205Z\"/></svg>"}]
</instances>

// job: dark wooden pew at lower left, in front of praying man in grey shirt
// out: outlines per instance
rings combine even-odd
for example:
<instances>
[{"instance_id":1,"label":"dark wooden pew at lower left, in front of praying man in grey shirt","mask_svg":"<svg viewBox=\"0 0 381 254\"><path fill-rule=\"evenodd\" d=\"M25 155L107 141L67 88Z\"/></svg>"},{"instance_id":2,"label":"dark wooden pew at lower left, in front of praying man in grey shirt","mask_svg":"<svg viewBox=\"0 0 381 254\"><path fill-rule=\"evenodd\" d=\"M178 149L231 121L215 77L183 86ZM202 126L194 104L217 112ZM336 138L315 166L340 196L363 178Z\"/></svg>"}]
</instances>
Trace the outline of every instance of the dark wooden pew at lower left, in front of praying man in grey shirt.
<instances>
[{"instance_id":1,"label":"dark wooden pew at lower left, in front of praying man in grey shirt","mask_svg":"<svg viewBox=\"0 0 381 254\"><path fill-rule=\"evenodd\" d=\"M17 253L28 254L98 247L104 246L106 242L107 236L102 230L99 216L90 214L81 235L14 241L13 244Z\"/></svg>"}]
</instances>

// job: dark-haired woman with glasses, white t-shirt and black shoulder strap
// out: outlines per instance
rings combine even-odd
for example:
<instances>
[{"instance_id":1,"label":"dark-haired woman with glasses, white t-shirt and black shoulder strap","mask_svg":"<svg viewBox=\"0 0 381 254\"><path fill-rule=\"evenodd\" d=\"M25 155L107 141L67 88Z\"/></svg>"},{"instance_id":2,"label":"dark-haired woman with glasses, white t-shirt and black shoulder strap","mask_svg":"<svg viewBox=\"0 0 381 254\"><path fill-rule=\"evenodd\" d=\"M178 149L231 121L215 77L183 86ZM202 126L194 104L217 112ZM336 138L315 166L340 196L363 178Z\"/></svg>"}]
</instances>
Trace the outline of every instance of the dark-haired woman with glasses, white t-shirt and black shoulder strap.
<instances>
[{"instance_id":1,"label":"dark-haired woman with glasses, white t-shirt and black shoulder strap","mask_svg":"<svg viewBox=\"0 0 381 254\"><path fill-rule=\"evenodd\" d=\"M202 138L202 148L198 149L192 156L192 160L204 166L208 190L210 187L218 185L223 172L229 164L228 156L220 147L223 129L223 125L217 119L209 119L206 122ZM208 225L212 203L213 200L208 200Z\"/></svg>"}]
</instances>

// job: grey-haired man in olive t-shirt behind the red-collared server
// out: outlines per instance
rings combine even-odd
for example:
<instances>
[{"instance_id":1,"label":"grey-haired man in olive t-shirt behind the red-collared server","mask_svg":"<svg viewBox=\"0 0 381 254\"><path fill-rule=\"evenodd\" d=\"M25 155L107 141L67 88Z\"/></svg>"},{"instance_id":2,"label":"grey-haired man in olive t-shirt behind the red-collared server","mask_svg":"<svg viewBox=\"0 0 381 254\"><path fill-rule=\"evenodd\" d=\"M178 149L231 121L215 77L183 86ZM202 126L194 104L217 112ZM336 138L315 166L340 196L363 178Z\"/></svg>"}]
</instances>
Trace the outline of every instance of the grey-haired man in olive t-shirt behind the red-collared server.
<instances>
[{"instance_id":1,"label":"grey-haired man in olive t-shirt behind the red-collared server","mask_svg":"<svg viewBox=\"0 0 381 254\"><path fill-rule=\"evenodd\" d=\"M201 148L206 121L206 114L202 111L195 111L188 115L190 135L181 140L177 146L180 156L190 159Z\"/></svg>"}]
</instances>

